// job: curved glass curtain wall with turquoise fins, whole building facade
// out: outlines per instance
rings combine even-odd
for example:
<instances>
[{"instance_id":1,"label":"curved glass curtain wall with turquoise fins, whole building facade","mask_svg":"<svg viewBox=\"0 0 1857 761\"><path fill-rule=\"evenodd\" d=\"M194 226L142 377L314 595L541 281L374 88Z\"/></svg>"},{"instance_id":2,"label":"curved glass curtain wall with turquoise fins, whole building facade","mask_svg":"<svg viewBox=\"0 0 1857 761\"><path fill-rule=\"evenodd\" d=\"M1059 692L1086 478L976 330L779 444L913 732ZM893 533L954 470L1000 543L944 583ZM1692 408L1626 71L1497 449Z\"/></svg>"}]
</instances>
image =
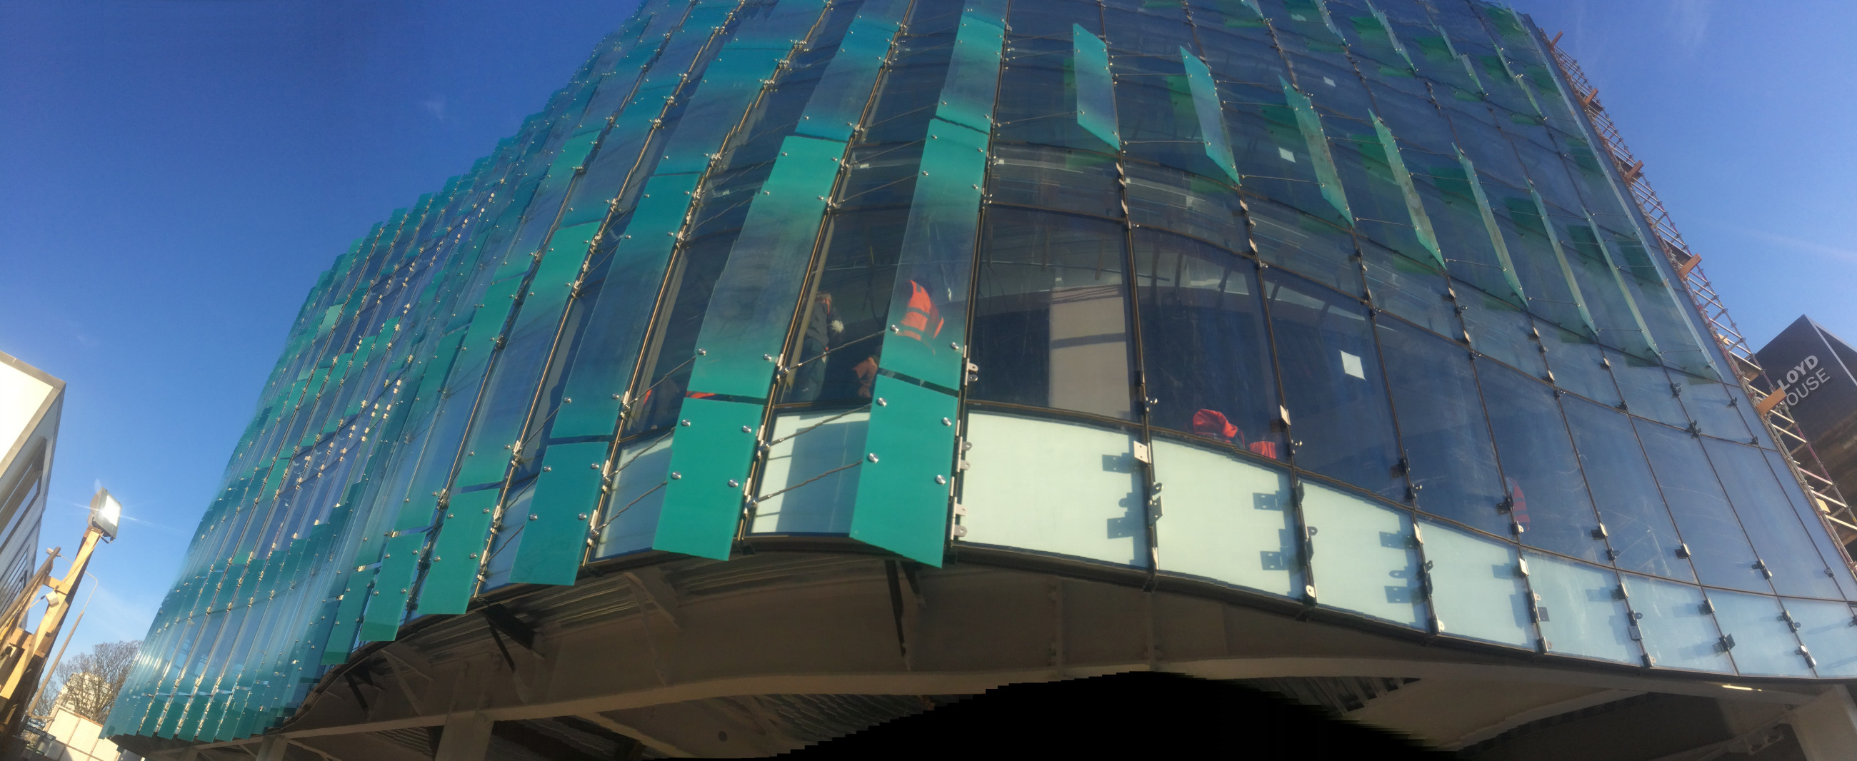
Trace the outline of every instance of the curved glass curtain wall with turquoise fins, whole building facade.
<instances>
[{"instance_id":1,"label":"curved glass curtain wall with turquoise fins, whole building facade","mask_svg":"<svg viewBox=\"0 0 1857 761\"><path fill-rule=\"evenodd\" d=\"M1545 43L1461 0L646 2L306 299L108 733L585 561L1133 568L1857 676L1857 594Z\"/></svg>"}]
</instances>

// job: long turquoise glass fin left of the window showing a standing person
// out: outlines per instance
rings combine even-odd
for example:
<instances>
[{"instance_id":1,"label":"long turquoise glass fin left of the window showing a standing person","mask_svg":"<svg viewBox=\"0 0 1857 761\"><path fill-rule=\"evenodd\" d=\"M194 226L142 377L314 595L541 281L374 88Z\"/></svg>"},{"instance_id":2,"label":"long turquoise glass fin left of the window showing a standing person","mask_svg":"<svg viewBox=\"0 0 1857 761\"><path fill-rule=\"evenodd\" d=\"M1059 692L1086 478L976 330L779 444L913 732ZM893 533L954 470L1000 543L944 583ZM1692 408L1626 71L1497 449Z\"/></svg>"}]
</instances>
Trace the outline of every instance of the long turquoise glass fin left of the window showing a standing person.
<instances>
[{"instance_id":1,"label":"long turquoise glass fin left of the window showing a standing person","mask_svg":"<svg viewBox=\"0 0 1857 761\"><path fill-rule=\"evenodd\" d=\"M843 154L845 145L828 139L780 143L780 158L748 206L711 291L691 390L767 397Z\"/></svg>"}]
</instances>

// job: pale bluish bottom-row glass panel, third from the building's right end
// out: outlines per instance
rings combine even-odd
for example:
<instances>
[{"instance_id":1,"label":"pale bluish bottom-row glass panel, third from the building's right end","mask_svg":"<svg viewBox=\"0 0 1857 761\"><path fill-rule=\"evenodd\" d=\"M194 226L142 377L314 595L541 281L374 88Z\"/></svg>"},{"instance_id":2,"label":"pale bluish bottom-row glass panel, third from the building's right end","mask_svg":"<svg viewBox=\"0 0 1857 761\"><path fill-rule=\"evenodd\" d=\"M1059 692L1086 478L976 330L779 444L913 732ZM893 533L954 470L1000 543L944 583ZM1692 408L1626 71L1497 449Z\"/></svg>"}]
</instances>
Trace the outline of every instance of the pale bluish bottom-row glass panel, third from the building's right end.
<instances>
[{"instance_id":1,"label":"pale bluish bottom-row glass panel, third from the building's right end","mask_svg":"<svg viewBox=\"0 0 1857 761\"><path fill-rule=\"evenodd\" d=\"M1690 585L1619 574L1630 596L1634 627L1653 666L1734 674L1721 629L1703 590Z\"/></svg>"}]
</instances>

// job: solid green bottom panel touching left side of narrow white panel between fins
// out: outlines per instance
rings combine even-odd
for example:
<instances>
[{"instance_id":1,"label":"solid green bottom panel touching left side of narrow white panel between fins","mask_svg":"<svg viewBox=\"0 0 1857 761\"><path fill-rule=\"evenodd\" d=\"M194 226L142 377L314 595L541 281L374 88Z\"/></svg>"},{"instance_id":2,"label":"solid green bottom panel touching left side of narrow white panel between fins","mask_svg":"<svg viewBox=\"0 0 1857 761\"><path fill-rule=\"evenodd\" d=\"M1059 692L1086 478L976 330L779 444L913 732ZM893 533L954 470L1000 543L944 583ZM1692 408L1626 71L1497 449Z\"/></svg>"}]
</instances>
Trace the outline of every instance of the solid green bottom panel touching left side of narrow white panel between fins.
<instances>
[{"instance_id":1,"label":"solid green bottom panel touching left side of narrow white panel between fins","mask_svg":"<svg viewBox=\"0 0 1857 761\"><path fill-rule=\"evenodd\" d=\"M652 549L728 559L761 412L758 403L683 399Z\"/></svg>"}]
</instances>

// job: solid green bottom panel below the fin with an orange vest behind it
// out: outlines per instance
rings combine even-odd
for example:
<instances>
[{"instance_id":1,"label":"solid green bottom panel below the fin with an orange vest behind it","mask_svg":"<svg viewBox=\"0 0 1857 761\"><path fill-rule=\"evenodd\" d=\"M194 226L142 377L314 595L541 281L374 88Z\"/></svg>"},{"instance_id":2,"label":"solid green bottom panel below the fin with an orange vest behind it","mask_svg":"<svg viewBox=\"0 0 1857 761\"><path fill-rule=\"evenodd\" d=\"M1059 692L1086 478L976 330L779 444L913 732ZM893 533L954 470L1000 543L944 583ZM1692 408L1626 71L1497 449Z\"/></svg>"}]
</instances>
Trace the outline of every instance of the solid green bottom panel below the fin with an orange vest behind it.
<instances>
[{"instance_id":1,"label":"solid green bottom panel below the fin with an orange vest behind it","mask_svg":"<svg viewBox=\"0 0 1857 761\"><path fill-rule=\"evenodd\" d=\"M871 390L865 460L851 536L941 566L954 458L954 397L880 375Z\"/></svg>"}]
</instances>

